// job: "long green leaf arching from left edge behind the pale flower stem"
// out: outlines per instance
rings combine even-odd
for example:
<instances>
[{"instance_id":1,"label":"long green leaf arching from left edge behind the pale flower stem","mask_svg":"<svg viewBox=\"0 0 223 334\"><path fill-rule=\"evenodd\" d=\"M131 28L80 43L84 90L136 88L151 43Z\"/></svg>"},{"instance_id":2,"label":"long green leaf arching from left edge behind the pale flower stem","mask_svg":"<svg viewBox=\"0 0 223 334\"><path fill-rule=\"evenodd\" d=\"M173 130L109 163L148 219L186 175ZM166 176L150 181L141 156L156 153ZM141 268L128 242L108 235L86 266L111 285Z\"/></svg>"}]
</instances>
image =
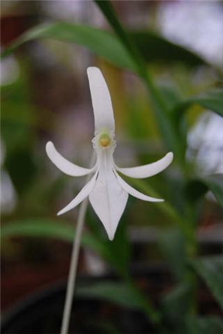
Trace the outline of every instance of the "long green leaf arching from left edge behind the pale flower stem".
<instances>
[{"instance_id":1,"label":"long green leaf arching from left edge behind the pale flower stem","mask_svg":"<svg viewBox=\"0 0 223 334\"><path fill-rule=\"evenodd\" d=\"M78 225L78 224L77 224ZM1 237L3 241L11 237L45 237L59 239L66 242L72 243L76 239L76 234L78 233L77 229L74 229L73 226L67 225L65 221L54 221L52 219L40 218L32 219L29 218L26 221L13 221L8 222L1 228ZM145 299L144 295L140 289L133 283L127 269L120 268L115 266L115 262L111 261L111 255L108 253L108 248L106 245L99 243L95 237L92 236L89 232L84 232L81 238L81 244L87 248L90 248L95 253L98 253L105 261L109 262L110 265L117 271L118 275L129 284L131 281L131 288L134 289L135 296L138 296L138 299L142 300L142 311L148 317L151 323L158 324L160 320L160 314L157 310L154 309L154 306L151 304L149 299ZM71 274L74 273L74 270L71 270ZM74 278L72 278L73 280ZM72 293L69 291L69 296L72 296ZM66 321L67 323L67 321ZM67 325L66 325L67 327Z\"/></svg>"}]
</instances>

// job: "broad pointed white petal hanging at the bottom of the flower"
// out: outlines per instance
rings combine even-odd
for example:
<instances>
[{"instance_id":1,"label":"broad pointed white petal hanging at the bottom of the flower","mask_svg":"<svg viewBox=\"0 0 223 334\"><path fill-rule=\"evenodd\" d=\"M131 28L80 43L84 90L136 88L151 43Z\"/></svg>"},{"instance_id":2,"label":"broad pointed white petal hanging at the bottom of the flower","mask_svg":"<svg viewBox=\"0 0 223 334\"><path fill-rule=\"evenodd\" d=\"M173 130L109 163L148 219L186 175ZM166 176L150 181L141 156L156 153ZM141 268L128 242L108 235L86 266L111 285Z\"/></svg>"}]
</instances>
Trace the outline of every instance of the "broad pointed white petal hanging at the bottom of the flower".
<instances>
[{"instance_id":1,"label":"broad pointed white petal hanging at the bottom of the flower","mask_svg":"<svg viewBox=\"0 0 223 334\"><path fill-rule=\"evenodd\" d=\"M99 170L99 177L90 193L89 200L103 223L108 238L113 240L117 224L126 207L128 193L120 186L111 168Z\"/></svg>"}]
</instances>

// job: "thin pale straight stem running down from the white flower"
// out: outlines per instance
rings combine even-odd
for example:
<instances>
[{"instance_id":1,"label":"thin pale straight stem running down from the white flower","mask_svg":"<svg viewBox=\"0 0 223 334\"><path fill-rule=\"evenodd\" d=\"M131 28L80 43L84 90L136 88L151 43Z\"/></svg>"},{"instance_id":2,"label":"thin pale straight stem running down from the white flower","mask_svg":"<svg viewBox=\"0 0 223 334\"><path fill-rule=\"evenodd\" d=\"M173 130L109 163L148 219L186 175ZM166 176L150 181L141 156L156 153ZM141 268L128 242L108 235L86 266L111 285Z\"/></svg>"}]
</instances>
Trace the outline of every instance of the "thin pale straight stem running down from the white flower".
<instances>
[{"instance_id":1,"label":"thin pale straight stem running down from the white flower","mask_svg":"<svg viewBox=\"0 0 223 334\"><path fill-rule=\"evenodd\" d=\"M94 153L92 154L92 159L90 166L92 166L92 162L94 161ZM89 181L90 176L87 177L87 182ZM83 225L85 222L85 214L88 207L88 198L85 198L83 202L80 205L79 209L79 216L77 218L76 223L76 234L74 238L73 248L72 248L72 257L70 260L70 266L69 266L69 276L67 280L67 292L65 296L65 306L63 309L63 318L62 318L62 325L60 334L68 334L69 331L69 319L71 315L72 310L72 301L74 296L74 289L75 289L75 283L76 283L76 271L77 271L77 265L79 262L79 252L80 252L80 246L81 246L81 236L83 232Z\"/></svg>"}]
</instances>

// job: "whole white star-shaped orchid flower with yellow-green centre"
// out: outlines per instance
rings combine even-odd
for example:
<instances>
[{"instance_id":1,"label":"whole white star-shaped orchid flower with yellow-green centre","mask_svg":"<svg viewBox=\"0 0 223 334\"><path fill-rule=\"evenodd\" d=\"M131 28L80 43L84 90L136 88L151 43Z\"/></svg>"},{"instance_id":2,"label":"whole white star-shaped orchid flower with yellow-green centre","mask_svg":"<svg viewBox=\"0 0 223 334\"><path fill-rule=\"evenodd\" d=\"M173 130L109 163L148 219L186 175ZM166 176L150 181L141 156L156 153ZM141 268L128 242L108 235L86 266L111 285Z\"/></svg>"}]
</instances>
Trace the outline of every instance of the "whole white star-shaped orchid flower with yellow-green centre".
<instances>
[{"instance_id":1,"label":"whole white star-shaped orchid flower with yellow-green centre","mask_svg":"<svg viewBox=\"0 0 223 334\"><path fill-rule=\"evenodd\" d=\"M116 146L115 120L106 81L97 67L88 67L88 80L94 109L95 136L92 139L92 144L97 153L96 164L93 168L83 168L72 164L58 153L51 141L47 143L46 151L53 164L67 175L83 176L94 173L74 200L60 210L58 215L65 214L89 196L94 212L103 223L108 238L113 240L129 194L148 202L163 202L161 199L146 196L135 190L117 172L135 178L150 177L167 168L172 162L173 154L169 152L165 157L152 164L119 168L113 159Z\"/></svg>"}]
</instances>

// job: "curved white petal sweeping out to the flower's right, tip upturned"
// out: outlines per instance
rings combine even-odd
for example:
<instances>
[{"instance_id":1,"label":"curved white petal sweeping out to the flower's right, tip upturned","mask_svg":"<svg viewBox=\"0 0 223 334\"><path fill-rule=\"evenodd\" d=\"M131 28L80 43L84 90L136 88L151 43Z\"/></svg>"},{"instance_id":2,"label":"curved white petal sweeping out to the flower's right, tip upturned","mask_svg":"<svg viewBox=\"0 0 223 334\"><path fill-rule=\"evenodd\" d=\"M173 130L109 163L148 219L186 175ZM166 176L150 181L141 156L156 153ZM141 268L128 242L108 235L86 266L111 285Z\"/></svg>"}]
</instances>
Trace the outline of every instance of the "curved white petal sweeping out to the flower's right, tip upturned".
<instances>
[{"instance_id":1,"label":"curved white petal sweeping out to the flower's right, tip upturned","mask_svg":"<svg viewBox=\"0 0 223 334\"><path fill-rule=\"evenodd\" d=\"M132 168L119 168L115 166L115 168L126 176L135 177L135 179L142 179L144 177L153 176L162 172L162 170L167 168L167 166L172 163L173 157L174 155L172 152L169 152L165 155L165 157L156 162L153 162L152 164Z\"/></svg>"}]
</instances>

